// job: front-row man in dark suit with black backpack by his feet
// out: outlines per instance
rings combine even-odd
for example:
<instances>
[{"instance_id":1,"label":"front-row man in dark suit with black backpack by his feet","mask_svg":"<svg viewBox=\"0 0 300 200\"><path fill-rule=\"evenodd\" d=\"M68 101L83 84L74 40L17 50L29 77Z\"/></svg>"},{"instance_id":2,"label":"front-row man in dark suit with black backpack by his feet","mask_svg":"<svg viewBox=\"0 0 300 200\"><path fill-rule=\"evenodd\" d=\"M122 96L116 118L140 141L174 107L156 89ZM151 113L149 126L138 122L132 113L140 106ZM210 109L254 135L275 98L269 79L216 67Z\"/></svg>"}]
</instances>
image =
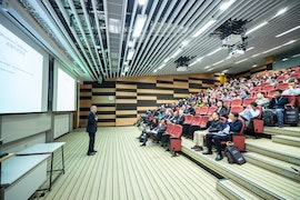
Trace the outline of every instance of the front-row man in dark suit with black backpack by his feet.
<instances>
[{"instance_id":1,"label":"front-row man in dark suit with black backpack by his feet","mask_svg":"<svg viewBox=\"0 0 300 200\"><path fill-rule=\"evenodd\" d=\"M237 112L231 112L229 114L228 121L222 126L222 129L218 132L209 132L207 134L207 148L208 150L203 152L203 154L212 154L211 151L211 146L212 146L212 140L214 142L214 146L217 148L217 157L216 160L222 160L222 149L221 149L221 141L229 141L230 140L230 132L240 132L242 128L242 122L238 120L239 113Z\"/></svg>"}]
</instances>

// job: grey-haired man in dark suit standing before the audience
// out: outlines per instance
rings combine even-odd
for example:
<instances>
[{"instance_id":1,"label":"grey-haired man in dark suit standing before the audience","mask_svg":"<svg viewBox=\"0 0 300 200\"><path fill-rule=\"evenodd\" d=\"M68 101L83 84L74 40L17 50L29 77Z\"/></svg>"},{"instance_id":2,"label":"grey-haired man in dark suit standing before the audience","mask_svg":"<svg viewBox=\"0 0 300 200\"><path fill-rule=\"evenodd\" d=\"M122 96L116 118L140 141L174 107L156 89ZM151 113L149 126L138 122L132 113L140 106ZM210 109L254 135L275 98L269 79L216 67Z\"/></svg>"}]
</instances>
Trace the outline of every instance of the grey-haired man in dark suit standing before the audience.
<instances>
[{"instance_id":1,"label":"grey-haired man in dark suit standing before the audience","mask_svg":"<svg viewBox=\"0 0 300 200\"><path fill-rule=\"evenodd\" d=\"M88 156L93 156L97 151L93 149L94 146L94 134L97 132L97 107L91 106L90 113L88 116L88 124L87 124L87 132L89 133L90 141L89 141L89 149Z\"/></svg>"}]
</instances>

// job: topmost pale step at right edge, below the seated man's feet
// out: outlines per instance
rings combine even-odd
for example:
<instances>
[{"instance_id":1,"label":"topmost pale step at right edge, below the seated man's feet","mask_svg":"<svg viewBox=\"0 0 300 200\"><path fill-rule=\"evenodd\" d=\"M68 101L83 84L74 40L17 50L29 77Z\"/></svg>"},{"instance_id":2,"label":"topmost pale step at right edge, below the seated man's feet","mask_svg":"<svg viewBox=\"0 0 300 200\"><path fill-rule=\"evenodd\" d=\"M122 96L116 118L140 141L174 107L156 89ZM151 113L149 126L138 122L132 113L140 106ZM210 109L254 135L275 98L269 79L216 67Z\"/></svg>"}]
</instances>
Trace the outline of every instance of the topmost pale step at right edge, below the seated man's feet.
<instances>
[{"instance_id":1,"label":"topmost pale step at right edge, below the seated man's feet","mask_svg":"<svg viewBox=\"0 0 300 200\"><path fill-rule=\"evenodd\" d=\"M266 134L284 134L300 138L300 127L263 127L263 133Z\"/></svg>"}]
</instances>

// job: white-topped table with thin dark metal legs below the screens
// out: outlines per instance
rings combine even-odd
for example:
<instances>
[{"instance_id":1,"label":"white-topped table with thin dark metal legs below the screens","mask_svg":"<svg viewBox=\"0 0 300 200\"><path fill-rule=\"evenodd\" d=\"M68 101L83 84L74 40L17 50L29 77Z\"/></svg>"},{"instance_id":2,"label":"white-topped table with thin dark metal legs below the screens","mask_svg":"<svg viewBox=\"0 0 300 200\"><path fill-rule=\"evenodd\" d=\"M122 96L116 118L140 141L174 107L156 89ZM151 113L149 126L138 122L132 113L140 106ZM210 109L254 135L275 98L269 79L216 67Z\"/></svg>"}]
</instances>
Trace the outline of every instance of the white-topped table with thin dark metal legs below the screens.
<instances>
[{"instance_id":1,"label":"white-topped table with thin dark metal legs below the screens","mask_svg":"<svg viewBox=\"0 0 300 200\"><path fill-rule=\"evenodd\" d=\"M66 142L38 143L16 153L16 156L51 154L50 171L48 171L50 172L49 188L42 189L42 190L49 190L49 191L51 190L52 183L56 181L56 179L52 181L53 171L60 171L59 174L61 173L64 174L64 156L63 156L64 143ZM53 156L54 156L54 151L59 148L61 148L62 169L53 170Z\"/></svg>"}]
</instances>

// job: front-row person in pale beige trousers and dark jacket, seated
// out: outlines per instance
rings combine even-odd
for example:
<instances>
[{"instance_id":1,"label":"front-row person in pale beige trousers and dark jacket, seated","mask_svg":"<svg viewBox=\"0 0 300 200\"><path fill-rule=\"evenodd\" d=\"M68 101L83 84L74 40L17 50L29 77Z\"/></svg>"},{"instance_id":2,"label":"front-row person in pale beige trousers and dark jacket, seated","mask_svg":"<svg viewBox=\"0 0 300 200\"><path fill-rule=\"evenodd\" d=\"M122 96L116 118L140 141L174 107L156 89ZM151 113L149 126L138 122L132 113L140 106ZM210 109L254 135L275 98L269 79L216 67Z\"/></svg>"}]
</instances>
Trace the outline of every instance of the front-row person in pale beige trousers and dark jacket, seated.
<instances>
[{"instance_id":1,"label":"front-row person in pale beige trousers and dark jacket, seated","mask_svg":"<svg viewBox=\"0 0 300 200\"><path fill-rule=\"evenodd\" d=\"M209 122L209 128L203 131L194 131L193 132L193 143L194 146L191 149L194 149L196 151L202 151L203 150L203 139L206 134L209 132L218 132L222 128L222 121L220 120L220 114L218 112L212 112L211 120Z\"/></svg>"}]
</instances>

